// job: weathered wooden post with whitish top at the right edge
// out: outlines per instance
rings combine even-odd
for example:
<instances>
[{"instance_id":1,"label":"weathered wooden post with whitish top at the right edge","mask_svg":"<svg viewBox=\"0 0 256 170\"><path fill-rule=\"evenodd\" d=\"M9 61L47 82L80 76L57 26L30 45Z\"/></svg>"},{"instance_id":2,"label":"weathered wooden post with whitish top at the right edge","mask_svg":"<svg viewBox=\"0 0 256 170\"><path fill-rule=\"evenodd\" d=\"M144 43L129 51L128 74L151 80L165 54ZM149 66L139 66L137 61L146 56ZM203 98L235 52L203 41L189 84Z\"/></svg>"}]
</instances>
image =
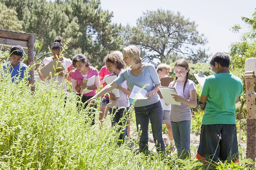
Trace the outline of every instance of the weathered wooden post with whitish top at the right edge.
<instances>
[{"instance_id":1,"label":"weathered wooden post with whitish top at the right edge","mask_svg":"<svg viewBox=\"0 0 256 170\"><path fill-rule=\"evenodd\" d=\"M255 161L255 151L256 151L256 107L255 107L255 97L254 92L254 81L255 75L254 71L247 71L244 75L246 83L246 105L247 105L247 143L246 143L246 158L250 158ZM251 165L254 168L254 164Z\"/></svg>"}]
</instances>

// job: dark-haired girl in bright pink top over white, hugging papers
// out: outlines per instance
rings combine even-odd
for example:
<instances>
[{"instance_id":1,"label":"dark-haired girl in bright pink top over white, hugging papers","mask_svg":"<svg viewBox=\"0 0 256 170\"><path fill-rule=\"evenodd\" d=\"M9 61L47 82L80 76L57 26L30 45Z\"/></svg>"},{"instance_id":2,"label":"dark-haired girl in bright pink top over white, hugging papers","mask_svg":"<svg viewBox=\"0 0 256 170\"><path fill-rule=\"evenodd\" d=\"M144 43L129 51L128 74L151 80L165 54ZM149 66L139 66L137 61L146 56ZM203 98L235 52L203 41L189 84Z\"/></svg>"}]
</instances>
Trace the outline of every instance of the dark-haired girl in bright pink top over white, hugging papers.
<instances>
[{"instance_id":1,"label":"dark-haired girl in bright pink top over white, hugging papers","mask_svg":"<svg viewBox=\"0 0 256 170\"><path fill-rule=\"evenodd\" d=\"M92 67L92 64L89 63L87 58L83 54L76 54L73 58L73 66L76 68L71 72L71 84L72 88L76 92L76 95L78 95L78 100L84 103L86 100L91 99L95 94L96 90L100 88L100 78L98 70ZM85 83L83 83L84 78L89 79L95 76L94 85L87 86ZM81 94L81 89L86 89L91 92ZM78 109L84 109L86 108L88 104L86 103L84 107L80 102L77 102L76 107ZM83 108L81 108L83 107ZM97 105L94 105L94 108L97 108ZM95 114L93 111L87 112L88 116L92 116L92 123L94 124L94 117ZM92 115L93 113L93 115Z\"/></svg>"}]
</instances>

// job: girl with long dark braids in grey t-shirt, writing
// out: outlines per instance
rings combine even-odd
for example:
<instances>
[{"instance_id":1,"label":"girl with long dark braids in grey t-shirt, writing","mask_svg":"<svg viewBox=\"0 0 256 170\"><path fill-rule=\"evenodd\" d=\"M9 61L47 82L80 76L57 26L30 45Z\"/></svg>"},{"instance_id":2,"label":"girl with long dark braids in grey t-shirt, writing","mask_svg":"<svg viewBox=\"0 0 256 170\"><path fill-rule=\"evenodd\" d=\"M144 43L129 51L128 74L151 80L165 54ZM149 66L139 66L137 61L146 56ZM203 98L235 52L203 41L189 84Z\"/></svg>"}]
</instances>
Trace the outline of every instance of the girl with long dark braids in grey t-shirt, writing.
<instances>
[{"instance_id":1,"label":"girl with long dark braids in grey t-shirt, writing","mask_svg":"<svg viewBox=\"0 0 256 170\"><path fill-rule=\"evenodd\" d=\"M185 59L178 60L174 65L175 79L170 87L175 87L178 95L172 95L175 101L181 102L181 106L172 105L170 120L174 143L178 156L185 159L190 155L190 107L196 107L196 84L188 79L189 66Z\"/></svg>"}]
</instances>

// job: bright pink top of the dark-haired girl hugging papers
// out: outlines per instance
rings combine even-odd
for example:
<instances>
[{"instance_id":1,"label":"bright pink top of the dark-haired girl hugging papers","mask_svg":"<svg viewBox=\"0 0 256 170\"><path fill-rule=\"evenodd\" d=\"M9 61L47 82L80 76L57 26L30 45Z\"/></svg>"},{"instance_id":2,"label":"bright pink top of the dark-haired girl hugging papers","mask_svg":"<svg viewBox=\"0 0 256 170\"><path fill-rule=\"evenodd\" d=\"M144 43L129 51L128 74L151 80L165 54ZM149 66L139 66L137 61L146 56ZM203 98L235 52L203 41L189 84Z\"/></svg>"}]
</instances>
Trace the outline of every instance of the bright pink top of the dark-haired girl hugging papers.
<instances>
[{"instance_id":1,"label":"bright pink top of the dark-haired girl hugging papers","mask_svg":"<svg viewBox=\"0 0 256 170\"><path fill-rule=\"evenodd\" d=\"M94 67L92 66L89 66L89 70L88 70L88 73L87 73L87 76L86 78L91 78L93 75L95 75L95 82L100 82L100 78L99 78L99 73L98 73L98 70L95 69ZM71 78L74 79L74 80L77 80L77 85L81 85L83 83L83 80L84 80L84 77L83 75L81 74L80 71L78 71L77 69L73 70L71 72ZM96 80L96 78L98 80ZM96 85L96 84L95 84ZM96 85L97 87L100 85ZM98 88L99 88L98 87ZM80 91L77 91L78 94L81 94ZM92 92L89 92L89 93L85 93L84 96L94 96L96 94L96 90L93 90Z\"/></svg>"}]
</instances>

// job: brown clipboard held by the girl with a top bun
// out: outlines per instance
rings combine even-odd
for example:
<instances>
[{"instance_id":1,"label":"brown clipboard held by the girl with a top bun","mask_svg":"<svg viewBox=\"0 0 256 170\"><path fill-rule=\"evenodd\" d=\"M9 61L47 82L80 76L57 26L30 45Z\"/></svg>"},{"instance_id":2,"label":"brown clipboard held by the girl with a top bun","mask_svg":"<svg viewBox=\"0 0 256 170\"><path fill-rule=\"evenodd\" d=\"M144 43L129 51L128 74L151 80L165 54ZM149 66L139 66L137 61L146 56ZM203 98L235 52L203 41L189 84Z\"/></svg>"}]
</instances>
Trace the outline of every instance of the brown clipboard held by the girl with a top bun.
<instances>
[{"instance_id":1,"label":"brown clipboard held by the girl with a top bun","mask_svg":"<svg viewBox=\"0 0 256 170\"><path fill-rule=\"evenodd\" d=\"M54 72L57 68L56 65L57 67L61 67L59 70L61 71L65 70L65 67L61 64L61 61L58 61L57 58L52 60L50 63L48 63L47 65L45 65L40 69L41 73L44 75L45 78L47 78L47 80L50 79L51 77L54 77Z\"/></svg>"}]
</instances>

